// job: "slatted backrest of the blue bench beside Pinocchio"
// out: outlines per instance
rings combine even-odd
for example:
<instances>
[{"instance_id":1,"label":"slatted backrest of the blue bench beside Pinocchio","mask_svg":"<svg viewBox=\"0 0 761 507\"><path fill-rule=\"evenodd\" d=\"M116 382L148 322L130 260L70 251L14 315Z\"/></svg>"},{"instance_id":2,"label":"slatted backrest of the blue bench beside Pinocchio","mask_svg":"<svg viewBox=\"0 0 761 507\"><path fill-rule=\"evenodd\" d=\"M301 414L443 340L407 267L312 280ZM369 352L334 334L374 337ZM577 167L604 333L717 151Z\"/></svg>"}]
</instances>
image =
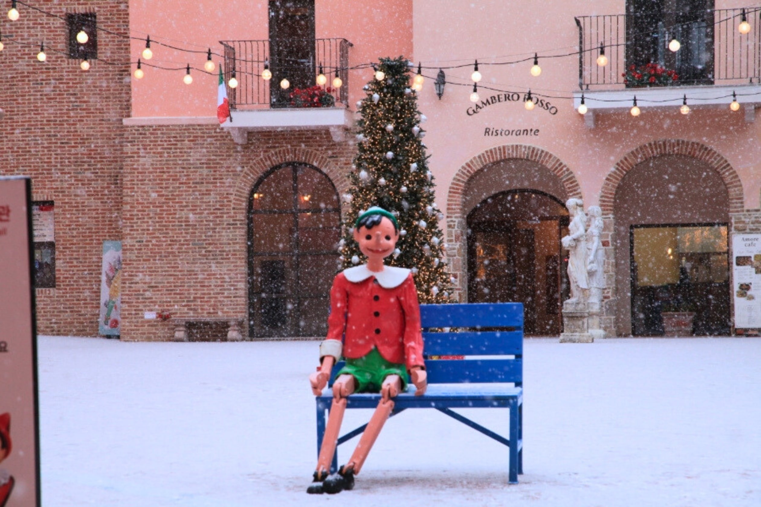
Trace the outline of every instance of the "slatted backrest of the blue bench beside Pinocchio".
<instances>
[{"instance_id":1,"label":"slatted backrest of the blue bench beside Pinocchio","mask_svg":"<svg viewBox=\"0 0 761 507\"><path fill-rule=\"evenodd\" d=\"M420 318L429 384L522 385L522 303L420 305ZM342 366L343 361L333 367L331 384Z\"/></svg>"}]
</instances>

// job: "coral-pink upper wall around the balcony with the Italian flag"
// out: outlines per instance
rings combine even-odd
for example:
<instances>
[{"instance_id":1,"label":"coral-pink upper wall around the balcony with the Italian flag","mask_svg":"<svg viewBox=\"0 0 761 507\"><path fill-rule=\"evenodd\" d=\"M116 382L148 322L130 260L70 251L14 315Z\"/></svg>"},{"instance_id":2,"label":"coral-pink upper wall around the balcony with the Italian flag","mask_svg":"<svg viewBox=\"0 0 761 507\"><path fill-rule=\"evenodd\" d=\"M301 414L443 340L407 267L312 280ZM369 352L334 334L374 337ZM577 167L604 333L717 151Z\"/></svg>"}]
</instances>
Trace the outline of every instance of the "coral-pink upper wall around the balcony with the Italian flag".
<instances>
[{"instance_id":1,"label":"coral-pink upper wall around the balcony with the Italian flag","mask_svg":"<svg viewBox=\"0 0 761 507\"><path fill-rule=\"evenodd\" d=\"M206 49L221 55L219 40L266 40L269 38L268 2L183 2L182 0L132 0L129 2L132 36L167 43L190 54L151 43L150 63L168 68L190 64L202 68ZM317 38L345 38L349 65L377 62L380 56L412 54L412 0L315 0ZM131 59L145 47L132 41ZM222 60L221 56L214 58ZM217 75L191 71L193 84L183 84L184 71L161 71L144 67L145 78L132 79L132 116L216 116ZM368 70L349 76L349 104L358 100L361 87L371 78Z\"/></svg>"}]
</instances>

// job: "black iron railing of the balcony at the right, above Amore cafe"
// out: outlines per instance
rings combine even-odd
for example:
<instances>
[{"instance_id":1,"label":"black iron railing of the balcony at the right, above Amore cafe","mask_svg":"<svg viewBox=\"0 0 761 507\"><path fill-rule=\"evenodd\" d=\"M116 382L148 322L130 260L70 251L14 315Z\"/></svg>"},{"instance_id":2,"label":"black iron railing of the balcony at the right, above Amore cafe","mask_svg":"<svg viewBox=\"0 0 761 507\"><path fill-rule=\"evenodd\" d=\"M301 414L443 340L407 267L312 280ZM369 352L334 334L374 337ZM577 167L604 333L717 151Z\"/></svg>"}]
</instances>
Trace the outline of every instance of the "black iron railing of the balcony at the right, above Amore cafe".
<instances>
[{"instance_id":1,"label":"black iron railing of the balcony at the right, above Amore cafe","mask_svg":"<svg viewBox=\"0 0 761 507\"><path fill-rule=\"evenodd\" d=\"M750 33L737 29L743 13ZM578 84L581 90L619 89L631 65L657 63L676 71L669 85L753 84L761 82L761 8L686 13L580 16ZM671 40L680 49L671 51ZM597 65L600 44L608 64Z\"/></svg>"}]
</instances>

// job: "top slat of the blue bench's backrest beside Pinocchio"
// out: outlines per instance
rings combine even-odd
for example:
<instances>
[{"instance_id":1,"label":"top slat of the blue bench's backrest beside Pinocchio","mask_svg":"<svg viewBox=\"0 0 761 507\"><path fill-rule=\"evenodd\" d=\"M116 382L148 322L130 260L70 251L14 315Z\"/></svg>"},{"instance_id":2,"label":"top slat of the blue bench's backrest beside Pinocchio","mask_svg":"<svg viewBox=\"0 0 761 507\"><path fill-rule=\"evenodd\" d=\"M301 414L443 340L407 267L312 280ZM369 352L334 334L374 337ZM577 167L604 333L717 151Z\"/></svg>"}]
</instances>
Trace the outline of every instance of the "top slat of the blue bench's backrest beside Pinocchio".
<instances>
[{"instance_id":1,"label":"top slat of the blue bench's backrest beside Pinocchio","mask_svg":"<svg viewBox=\"0 0 761 507\"><path fill-rule=\"evenodd\" d=\"M467 328L481 326L523 329L522 303L465 303L421 305L423 328Z\"/></svg>"}]
</instances>

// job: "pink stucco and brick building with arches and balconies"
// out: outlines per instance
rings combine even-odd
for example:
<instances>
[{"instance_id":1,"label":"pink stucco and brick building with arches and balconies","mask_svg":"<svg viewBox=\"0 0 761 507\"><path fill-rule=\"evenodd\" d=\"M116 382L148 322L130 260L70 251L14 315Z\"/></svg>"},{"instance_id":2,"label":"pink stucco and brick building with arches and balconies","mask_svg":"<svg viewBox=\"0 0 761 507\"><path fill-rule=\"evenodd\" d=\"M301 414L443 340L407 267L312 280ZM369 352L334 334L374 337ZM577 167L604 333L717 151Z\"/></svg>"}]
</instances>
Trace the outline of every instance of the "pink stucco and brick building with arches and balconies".
<instances>
[{"instance_id":1,"label":"pink stucco and brick building with arches and balconies","mask_svg":"<svg viewBox=\"0 0 761 507\"><path fill-rule=\"evenodd\" d=\"M761 233L761 69L748 57L761 47L759 12L745 8L754 26L738 34L736 2L645 2L658 12L641 3L599 2L599 16L567 2L537 13L464 0L40 3L53 16L21 6L18 21L0 24L0 174L32 176L34 201L54 209L54 239L40 243L40 256L55 255L54 280L37 289L40 332L98 333L103 242L119 240L125 340L322 334L354 104L369 64L400 54L426 76L419 108L458 298L520 300L528 334L559 334L564 203L582 198L603 214L607 335L661 334L671 299L696 307L696 334L734 332L738 308L756 312L738 296L747 280L735 279L731 242ZM626 17L634 11L644 14ZM88 71L81 54L66 54L73 14L95 14L102 29ZM651 18L663 26L648 38ZM136 79L148 36L154 59ZM666 49L677 36L681 53ZM44 63L41 42L58 50ZM600 42L606 67L594 63ZM556 56L570 47L581 53ZM236 70L240 81L221 126L217 75L199 71L207 48L225 79ZM286 63L294 56L297 71ZM475 59L484 79L471 102ZM637 88L621 77L646 62L682 81ZM329 85L334 70L344 81L336 106L287 107L280 79L309 87L321 67Z\"/></svg>"}]
</instances>

